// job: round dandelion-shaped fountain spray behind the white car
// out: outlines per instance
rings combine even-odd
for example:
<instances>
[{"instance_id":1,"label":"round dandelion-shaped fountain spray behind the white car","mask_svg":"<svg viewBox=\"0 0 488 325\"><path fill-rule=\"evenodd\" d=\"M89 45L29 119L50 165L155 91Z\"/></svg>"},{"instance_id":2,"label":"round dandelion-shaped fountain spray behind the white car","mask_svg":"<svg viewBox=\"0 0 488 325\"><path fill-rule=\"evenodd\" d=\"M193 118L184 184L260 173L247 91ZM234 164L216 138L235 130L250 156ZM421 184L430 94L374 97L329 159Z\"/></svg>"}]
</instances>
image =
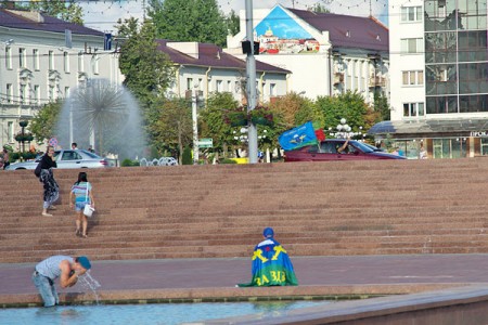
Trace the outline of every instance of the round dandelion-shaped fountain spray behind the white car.
<instances>
[{"instance_id":1,"label":"round dandelion-shaped fountain spray behind the white car","mask_svg":"<svg viewBox=\"0 0 488 325\"><path fill-rule=\"evenodd\" d=\"M76 142L92 145L100 155L119 159L141 156L145 146L139 105L121 84L90 79L66 99L56 123L55 136L63 148Z\"/></svg>"}]
</instances>

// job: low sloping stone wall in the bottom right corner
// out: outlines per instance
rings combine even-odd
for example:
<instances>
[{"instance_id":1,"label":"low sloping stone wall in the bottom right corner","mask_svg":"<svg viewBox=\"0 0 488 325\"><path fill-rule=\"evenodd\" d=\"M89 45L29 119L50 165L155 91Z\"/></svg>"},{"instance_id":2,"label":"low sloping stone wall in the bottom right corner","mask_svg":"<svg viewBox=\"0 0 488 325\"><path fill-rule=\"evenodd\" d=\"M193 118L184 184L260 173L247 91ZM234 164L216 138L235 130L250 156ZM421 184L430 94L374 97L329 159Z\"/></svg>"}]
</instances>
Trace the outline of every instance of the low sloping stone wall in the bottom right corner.
<instances>
[{"instance_id":1,"label":"low sloping stone wall in the bottom right corner","mask_svg":"<svg viewBox=\"0 0 488 325\"><path fill-rule=\"evenodd\" d=\"M485 325L488 284L406 296L345 301L266 317L248 315L205 324L341 324L341 325Z\"/></svg>"}]
</instances>

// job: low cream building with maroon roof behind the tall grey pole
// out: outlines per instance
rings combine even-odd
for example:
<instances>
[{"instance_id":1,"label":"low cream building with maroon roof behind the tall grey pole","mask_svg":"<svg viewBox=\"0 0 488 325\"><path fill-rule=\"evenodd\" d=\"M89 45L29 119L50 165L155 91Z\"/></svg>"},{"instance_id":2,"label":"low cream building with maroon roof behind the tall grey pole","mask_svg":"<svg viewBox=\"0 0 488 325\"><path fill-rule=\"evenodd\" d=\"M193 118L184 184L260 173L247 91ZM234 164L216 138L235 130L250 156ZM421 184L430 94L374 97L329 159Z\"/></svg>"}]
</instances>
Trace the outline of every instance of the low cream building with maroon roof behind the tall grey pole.
<instances>
[{"instance_id":1,"label":"low cream building with maroon roof behind the tall grey pole","mask_svg":"<svg viewBox=\"0 0 488 325\"><path fill-rule=\"evenodd\" d=\"M158 40L158 50L168 54L176 65L175 83L170 92L177 96L189 96L197 90L202 100L213 92L230 92L245 104L246 63L222 52L217 46L198 42L172 42ZM291 72L266 63L256 63L256 86L260 102L285 95L286 80Z\"/></svg>"}]
</instances>

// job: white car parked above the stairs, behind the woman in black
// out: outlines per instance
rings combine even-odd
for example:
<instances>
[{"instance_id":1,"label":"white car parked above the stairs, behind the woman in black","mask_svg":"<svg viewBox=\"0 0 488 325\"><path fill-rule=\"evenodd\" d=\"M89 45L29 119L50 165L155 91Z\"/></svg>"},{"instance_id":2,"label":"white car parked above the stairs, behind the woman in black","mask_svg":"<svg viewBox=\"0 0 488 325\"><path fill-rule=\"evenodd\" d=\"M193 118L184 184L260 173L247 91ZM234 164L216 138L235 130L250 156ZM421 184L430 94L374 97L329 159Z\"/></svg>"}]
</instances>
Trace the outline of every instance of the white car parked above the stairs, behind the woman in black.
<instances>
[{"instance_id":1,"label":"white car parked above the stairs, behind the woman in black","mask_svg":"<svg viewBox=\"0 0 488 325\"><path fill-rule=\"evenodd\" d=\"M55 151L54 157L56 158L57 168L60 169L110 167L110 164L105 158L84 150ZM36 169L40 159L41 157L38 157L36 160L31 161L11 164L5 170Z\"/></svg>"}]
</instances>

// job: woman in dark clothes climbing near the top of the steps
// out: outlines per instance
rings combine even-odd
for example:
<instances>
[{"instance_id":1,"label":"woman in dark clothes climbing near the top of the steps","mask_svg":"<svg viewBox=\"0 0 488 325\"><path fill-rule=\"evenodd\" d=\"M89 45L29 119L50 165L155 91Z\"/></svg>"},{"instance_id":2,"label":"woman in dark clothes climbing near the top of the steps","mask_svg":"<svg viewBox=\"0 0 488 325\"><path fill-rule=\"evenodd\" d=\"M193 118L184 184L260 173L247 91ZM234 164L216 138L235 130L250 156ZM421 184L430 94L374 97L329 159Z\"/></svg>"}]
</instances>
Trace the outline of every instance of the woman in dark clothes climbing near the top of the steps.
<instances>
[{"instance_id":1,"label":"woman in dark clothes climbing near the top of the steps","mask_svg":"<svg viewBox=\"0 0 488 325\"><path fill-rule=\"evenodd\" d=\"M39 181L44 186L42 216L52 217L48 210L55 210L54 203L60 197L60 186L54 180L53 168L57 167L56 158L54 157L54 147L48 146L47 153L42 156L40 164Z\"/></svg>"}]
</instances>

